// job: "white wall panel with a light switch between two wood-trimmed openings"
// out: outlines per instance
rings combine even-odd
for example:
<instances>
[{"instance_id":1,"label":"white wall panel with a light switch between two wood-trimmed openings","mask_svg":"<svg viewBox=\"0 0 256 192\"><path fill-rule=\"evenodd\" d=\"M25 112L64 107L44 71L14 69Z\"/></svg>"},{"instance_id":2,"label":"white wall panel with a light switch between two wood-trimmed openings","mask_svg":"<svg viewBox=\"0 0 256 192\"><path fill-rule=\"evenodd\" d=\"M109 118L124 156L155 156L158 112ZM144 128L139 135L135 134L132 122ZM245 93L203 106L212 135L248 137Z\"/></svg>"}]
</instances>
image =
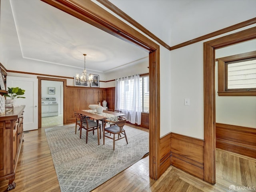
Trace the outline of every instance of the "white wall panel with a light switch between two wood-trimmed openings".
<instances>
[{"instance_id":1,"label":"white wall panel with a light switch between two wood-trimmed openings","mask_svg":"<svg viewBox=\"0 0 256 192\"><path fill-rule=\"evenodd\" d=\"M203 43L198 42L171 54L172 132L204 138ZM184 105L184 99L190 105Z\"/></svg>"}]
</instances>

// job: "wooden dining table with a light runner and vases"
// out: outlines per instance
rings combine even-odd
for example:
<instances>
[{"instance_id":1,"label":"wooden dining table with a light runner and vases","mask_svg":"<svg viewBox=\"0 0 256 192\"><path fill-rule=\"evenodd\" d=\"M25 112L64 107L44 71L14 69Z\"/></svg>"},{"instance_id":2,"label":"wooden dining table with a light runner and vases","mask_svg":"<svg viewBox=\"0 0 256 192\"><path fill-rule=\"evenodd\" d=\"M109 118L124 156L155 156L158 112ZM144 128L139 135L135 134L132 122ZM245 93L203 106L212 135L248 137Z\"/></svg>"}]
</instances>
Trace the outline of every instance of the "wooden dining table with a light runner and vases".
<instances>
[{"instance_id":1,"label":"wooden dining table with a light runner and vases","mask_svg":"<svg viewBox=\"0 0 256 192\"><path fill-rule=\"evenodd\" d=\"M96 110L78 110L77 112L84 115L84 116L88 116L88 117L93 118L94 120L96 120L96 122L97 122L97 134L98 134L98 145L100 145L100 138L101 138L101 133L99 131L99 120L103 121L104 119L108 119L108 120L111 120L111 121L117 121L118 117L126 115L126 114L123 114L123 113L107 111L107 110L103 110L103 112L101 114L98 114L96 112Z\"/></svg>"}]
</instances>

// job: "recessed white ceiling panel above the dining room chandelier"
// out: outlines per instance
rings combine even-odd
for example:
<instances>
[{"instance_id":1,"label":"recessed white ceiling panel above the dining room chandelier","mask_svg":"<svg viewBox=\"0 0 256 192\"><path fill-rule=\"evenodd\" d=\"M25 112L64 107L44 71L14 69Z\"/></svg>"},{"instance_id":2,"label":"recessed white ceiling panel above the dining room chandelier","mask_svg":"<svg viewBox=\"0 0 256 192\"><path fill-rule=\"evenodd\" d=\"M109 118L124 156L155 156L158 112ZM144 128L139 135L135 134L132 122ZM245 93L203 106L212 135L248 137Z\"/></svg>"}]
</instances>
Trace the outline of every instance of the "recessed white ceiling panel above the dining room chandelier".
<instances>
[{"instance_id":1,"label":"recessed white ceiling panel above the dining room chandelier","mask_svg":"<svg viewBox=\"0 0 256 192\"><path fill-rule=\"evenodd\" d=\"M131 64L148 52L40 0L11 0L22 57L98 72Z\"/></svg>"}]
</instances>

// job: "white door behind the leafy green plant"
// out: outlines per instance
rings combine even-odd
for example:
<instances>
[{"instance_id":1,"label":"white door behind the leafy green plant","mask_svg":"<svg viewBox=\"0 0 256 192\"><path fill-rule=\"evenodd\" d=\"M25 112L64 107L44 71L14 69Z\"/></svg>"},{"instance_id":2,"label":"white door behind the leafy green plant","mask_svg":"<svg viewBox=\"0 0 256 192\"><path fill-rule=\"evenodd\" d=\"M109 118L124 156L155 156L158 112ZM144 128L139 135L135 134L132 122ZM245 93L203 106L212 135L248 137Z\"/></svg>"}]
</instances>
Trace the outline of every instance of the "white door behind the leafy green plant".
<instances>
[{"instance_id":1,"label":"white door behind the leafy green plant","mask_svg":"<svg viewBox=\"0 0 256 192\"><path fill-rule=\"evenodd\" d=\"M26 98L15 99L15 105L26 105L23 115L24 131L38 129L38 79L7 76L6 87L19 87L25 90L22 96Z\"/></svg>"}]
</instances>

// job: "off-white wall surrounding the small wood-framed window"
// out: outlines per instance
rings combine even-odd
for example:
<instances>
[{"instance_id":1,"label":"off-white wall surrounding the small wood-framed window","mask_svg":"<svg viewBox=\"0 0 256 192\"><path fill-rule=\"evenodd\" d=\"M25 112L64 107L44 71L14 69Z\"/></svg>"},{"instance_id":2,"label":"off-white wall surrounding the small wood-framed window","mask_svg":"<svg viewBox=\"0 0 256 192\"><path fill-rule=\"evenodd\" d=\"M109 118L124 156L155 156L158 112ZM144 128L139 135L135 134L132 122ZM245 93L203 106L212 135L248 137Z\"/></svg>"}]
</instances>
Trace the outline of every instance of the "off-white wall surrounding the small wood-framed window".
<instances>
[{"instance_id":1,"label":"off-white wall surrounding the small wood-framed window","mask_svg":"<svg viewBox=\"0 0 256 192\"><path fill-rule=\"evenodd\" d=\"M251 52L256 50L256 40L216 50L215 57ZM215 66L216 122L256 128L256 96L218 96L218 62Z\"/></svg>"}]
</instances>

